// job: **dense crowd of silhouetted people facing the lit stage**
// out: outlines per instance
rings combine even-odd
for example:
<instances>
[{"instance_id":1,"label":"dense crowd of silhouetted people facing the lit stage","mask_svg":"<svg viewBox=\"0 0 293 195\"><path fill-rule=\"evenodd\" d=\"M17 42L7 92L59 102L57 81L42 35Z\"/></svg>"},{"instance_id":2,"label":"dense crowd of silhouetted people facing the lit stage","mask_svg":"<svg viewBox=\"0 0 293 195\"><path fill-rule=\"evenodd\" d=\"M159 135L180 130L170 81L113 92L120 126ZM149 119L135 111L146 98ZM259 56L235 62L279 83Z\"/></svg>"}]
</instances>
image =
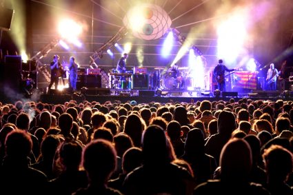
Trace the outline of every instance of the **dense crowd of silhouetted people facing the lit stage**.
<instances>
[{"instance_id":1,"label":"dense crowd of silhouetted people facing the lit stage","mask_svg":"<svg viewBox=\"0 0 293 195\"><path fill-rule=\"evenodd\" d=\"M0 194L293 194L292 108L0 103Z\"/></svg>"}]
</instances>

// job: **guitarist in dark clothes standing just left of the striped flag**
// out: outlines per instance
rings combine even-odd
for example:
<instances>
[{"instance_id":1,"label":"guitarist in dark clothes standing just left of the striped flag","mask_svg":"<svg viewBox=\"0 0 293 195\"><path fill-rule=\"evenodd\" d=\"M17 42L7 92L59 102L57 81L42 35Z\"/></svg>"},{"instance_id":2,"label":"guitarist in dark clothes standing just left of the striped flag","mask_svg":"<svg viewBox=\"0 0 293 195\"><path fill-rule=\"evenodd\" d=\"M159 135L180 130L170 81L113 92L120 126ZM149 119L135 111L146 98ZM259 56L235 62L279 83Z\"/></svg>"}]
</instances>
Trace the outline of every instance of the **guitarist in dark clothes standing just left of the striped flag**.
<instances>
[{"instance_id":1,"label":"guitarist in dark clothes standing just left of the striped flag","mask_svg":"<svg viewBox=\"0 0 293 195\"><path fill-rule=\"evenodd\" d=\"M214 76L216 77L216 82L218 83L218 90L221 92L225 92L225 71L232 72L235 69L228 69L225 65L223 65L223 60L219 59L218 65L214 68Z\"/></svg>"}]
</instances>

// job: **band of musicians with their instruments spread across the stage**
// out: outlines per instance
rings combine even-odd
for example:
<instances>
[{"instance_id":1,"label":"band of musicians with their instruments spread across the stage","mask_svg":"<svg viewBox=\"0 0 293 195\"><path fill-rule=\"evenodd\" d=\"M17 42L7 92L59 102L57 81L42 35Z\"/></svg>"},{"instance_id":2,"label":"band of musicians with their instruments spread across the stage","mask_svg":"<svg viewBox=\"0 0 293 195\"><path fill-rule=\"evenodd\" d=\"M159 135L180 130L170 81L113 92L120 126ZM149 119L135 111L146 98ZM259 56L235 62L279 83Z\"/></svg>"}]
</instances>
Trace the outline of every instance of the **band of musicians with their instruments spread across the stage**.
<instances>
[{"instance_id":1,"label":"band of musicians with their instruments spread across the stage","mask_svg":"<svg viewBox=\"0 0 293 195\"><path fill-rule=\"evenodd\" d=\"M127 60L128 54L124 53L119 61L117 61L117 67L110 70L110 74L105 73L107 74L106 76L108 76L108 81L110 81L108 88L116 90L132 90L132 85L134 84L133 77L139 74L145 75L145 77L148 78L143 81L148 82L146 85L148 90L156 90L157 88L163 88L165 90L190 90L196 86L193 78L194 75L192 75L194 72L188 67L179 67L177 63L172 63L166 68L155 67L152 72L148 72L147 68L137 68L134 72L134 68L127 65ZM64 80L68 79L69 88L71 88L73 92L78 91L77 80L79 64L75 62L74 57L70 57L68 64L65 63L64 57L61 62L59 61L60 57L55 54L50 63L51 71L48 90L50 90L53 85L55 90L58 89L60 84L65 86L66 84ZM288 70L288 68L287 61L283 61L279 71L274 67L274 63L271 63L270 68L266 72L265 78L263 78L263 82L265 83L262 86L262 90L285 90L284 83L288 81L291 70ZM230 74L233 74L235 70L236 69L234 68L227 68L227 66L224 65L223 59L219 59L214 68L212 68L212 70L210 68L210 72L212 72L212 76L216 81L216 88L220 91L226 91L226 81L228 81L228 79L226 78L227 74L225 74L225 72L232 72ZM204 72L204 74L207 74L207 72ZM32 86L36 83L30 78L25 78L23 80L28 81L26 82L26 85L23 84L23 89L31 92ZM143 85L143 88L145 88L145 85ZM214 88L210 87L208 90L214 90Z\"/></svg>"}]
</instances>

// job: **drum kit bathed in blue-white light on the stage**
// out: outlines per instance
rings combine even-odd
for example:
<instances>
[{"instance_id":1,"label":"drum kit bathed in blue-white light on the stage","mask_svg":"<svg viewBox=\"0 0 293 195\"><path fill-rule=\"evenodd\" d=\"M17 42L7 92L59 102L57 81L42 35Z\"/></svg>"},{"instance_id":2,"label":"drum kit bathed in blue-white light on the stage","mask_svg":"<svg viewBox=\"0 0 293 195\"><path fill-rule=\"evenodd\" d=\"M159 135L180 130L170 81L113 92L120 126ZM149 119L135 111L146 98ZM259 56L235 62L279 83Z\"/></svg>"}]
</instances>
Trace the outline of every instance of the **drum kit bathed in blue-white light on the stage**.
<instances>
[{"instance_id":1,"label":"drum kit bathed in blue-white light on the stage","mask_svg":"<svg viewBox=\"0 0 293 195\"><path fill-rule=\"evenodd\" d=\"M184 70L188 70L188 67L178 68L177 72L168 70L161 74L161 88L165 90L188 90L188 88L192 88L193 78Z\"/></svg>"}]
</instances>

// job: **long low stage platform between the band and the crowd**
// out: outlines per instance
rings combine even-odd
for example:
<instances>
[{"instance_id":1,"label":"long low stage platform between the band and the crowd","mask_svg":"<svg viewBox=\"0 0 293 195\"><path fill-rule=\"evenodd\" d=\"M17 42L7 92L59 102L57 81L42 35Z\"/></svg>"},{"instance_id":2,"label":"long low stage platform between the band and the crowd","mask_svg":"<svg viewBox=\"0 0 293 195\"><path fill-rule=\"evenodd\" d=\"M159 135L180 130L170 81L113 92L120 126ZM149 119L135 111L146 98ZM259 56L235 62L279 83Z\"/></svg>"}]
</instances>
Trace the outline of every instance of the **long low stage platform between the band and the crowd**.
<instances>
[{"instance_id":1,"label":"long low stage platform between the band and the crowd","mask_svg":"<svg viewBox=\"0 0 293 195\"><path fill-rule=\"evenodd\" d=\"M70 88L63 90L50 90L46 93L44 89L34 89L32 94L19 94L15 92L8 92L7 90L0 90L0 101L2 103L14 103L15 101L41 101L43 103L64 103L65 101L75 100L78 103L82 101L97 101L105 103L105 101L137 101L137 103L149 103L152 101L160 103L173 102L194 102L196 101L229 101L231 98L238 101L239 99L247 98L252 100L272 100L278 99L292 100L293 92L291 91L260 91L250 90L247 92L220 92L214 94L207 90L167 90L157 88L156 90L132 89L132 90L117 90L109 88L86 88L73 93Z\"/></svg>"}]
</instances>

